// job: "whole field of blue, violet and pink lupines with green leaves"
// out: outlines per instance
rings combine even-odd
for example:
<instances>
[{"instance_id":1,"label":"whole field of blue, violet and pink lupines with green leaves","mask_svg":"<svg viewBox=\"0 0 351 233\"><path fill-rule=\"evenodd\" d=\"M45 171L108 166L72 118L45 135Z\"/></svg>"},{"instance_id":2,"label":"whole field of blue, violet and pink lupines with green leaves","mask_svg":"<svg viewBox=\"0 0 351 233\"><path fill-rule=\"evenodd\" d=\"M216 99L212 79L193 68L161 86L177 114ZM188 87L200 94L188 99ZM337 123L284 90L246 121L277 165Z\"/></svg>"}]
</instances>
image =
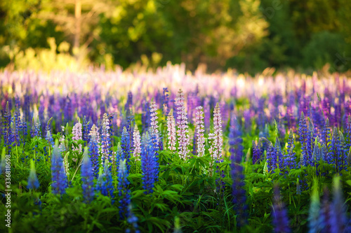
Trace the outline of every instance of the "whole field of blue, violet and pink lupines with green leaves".
<instances>
[{"instance_id":1,"label":"whole field of blue, violet and pink lupines with green leaves","mask_svg":"<svg viewBox=\"0 0 351 233\"><path fill-rule=\"evenodd\" d=\"M168 64L0 81L1 232L351 231L346 76Z\"/></svg>"}]
</instances>

